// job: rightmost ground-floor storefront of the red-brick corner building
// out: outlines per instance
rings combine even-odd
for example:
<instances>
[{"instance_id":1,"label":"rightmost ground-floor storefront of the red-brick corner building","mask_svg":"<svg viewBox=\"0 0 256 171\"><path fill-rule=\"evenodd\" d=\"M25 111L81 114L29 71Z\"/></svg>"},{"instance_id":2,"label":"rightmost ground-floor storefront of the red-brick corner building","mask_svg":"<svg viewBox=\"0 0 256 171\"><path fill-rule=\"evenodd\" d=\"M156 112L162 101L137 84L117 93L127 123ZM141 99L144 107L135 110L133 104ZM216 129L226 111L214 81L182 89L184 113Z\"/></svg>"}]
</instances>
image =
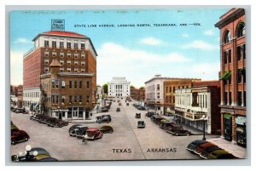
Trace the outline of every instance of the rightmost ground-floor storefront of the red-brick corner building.
<instances>
[{"instance_id":1,"label":"rightmost ground-floor storefront of the red-brick corner building","mask_svg":"<svg viewBox=\"0 0 256 171\"><path fill-rule=\"evenodd\" d=\"M236 117L236 143L243 147L247 146L246 117Z\"/></svg>"}]
</instances>

